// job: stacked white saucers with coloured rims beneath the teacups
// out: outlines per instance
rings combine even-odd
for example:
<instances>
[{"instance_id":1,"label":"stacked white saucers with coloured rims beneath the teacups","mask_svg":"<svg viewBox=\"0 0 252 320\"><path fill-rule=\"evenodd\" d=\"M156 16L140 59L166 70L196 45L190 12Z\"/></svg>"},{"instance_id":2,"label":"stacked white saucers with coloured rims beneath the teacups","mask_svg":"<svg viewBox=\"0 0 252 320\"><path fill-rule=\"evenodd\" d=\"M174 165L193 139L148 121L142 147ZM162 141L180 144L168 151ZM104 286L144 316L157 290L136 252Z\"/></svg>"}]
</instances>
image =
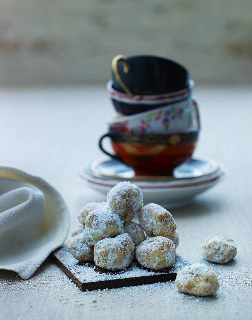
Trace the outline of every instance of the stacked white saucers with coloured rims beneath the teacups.
<instances>
[{"instance_id":1,"label":"stacked white saucers with coloured rims beneath the teacups","mask_svg":"<svg viewBox=\"0 0 252 320\"><path fill-rule=\"evenodd\" d=\"M189 203L200 193L223 180L227 170L214 160L194 156L174 169L171 176L136 175L134 170L114 158L102 157L81 169L79 177L100 193L107 192L121 181L130 181L141 188L146 203L171 208Z\"/></svg>"}]
</instances>

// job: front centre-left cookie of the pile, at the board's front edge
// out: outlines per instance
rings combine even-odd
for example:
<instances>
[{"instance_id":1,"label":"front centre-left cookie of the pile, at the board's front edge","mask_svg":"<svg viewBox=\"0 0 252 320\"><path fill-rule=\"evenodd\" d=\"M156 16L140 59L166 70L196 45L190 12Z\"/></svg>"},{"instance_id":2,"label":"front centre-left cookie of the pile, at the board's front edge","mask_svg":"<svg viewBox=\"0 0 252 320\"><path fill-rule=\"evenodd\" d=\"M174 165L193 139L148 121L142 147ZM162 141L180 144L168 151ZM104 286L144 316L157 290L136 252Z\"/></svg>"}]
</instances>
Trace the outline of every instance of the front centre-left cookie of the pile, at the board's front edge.
<instances>
[{"instance_id":1,"label":"front centre-left cookie of the pile, at the board's front edge","mask_svg":"<svg viewBox=\"0 0 252 320\"><path fill-rule=\"evenodd\" d=\"M103 239L94 247L94 262L107 270L126 269L133 259L134 248L128 233Z\"/></svg>"}]
</instances>

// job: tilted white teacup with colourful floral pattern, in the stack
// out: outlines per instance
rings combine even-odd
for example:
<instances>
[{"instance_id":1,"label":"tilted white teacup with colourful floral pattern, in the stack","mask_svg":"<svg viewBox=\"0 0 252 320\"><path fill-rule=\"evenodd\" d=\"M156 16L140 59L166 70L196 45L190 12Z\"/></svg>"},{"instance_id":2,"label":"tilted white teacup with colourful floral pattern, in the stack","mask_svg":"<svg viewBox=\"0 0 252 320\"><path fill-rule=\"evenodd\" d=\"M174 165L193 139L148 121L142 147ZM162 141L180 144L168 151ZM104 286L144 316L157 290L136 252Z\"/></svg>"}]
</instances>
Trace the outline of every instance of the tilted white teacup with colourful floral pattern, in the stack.
<instances>
[{"instance_id":1,"label":"tilted white teacup with colourful floral pattern, in the stack","mask_svg":"<svg viewBox=\"0 0 252 320\"><path fill-rule=\"evenodd\" d=\"M194 97L164 107L108 121L110 132L169 134L197 132L200 129L197 102Z\"/></svg>"}]
</instances>

